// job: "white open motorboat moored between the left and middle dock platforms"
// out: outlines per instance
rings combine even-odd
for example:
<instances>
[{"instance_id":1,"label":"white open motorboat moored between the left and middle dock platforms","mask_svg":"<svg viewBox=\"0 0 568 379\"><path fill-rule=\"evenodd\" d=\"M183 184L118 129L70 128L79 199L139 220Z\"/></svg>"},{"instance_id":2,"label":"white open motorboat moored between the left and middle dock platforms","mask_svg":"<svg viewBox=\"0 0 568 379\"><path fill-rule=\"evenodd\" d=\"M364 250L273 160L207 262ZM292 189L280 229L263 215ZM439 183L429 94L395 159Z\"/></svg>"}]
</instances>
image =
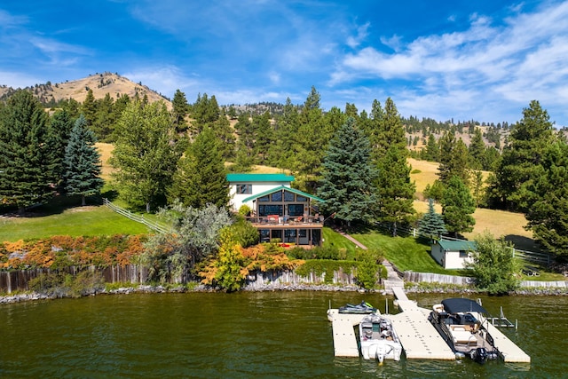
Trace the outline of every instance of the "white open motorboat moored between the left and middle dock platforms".
<instances>
[{"instance_id":1,"label":"white open motorboat moored between the left and middle dock platforms","mask_svg":"<svg viewBox=\"0 0 568 379\"><path fill-rule=\"evenodd\" d=\"M402 344L397 333L390 320L378 312L363 317L359 323L359 339L364 359L377 359L379 363L384 359L400 359Z\"/></svg>"}]
</instances>

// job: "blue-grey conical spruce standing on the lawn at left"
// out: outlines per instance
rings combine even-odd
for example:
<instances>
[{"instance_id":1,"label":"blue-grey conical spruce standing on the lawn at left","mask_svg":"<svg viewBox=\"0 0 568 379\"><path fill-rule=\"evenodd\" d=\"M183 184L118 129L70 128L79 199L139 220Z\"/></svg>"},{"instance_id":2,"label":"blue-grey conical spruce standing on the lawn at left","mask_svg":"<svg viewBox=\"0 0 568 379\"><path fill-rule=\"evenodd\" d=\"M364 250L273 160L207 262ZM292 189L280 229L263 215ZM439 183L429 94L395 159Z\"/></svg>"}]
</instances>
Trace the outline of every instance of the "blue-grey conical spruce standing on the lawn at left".
<instances>
[{"instance_id":1,"label":"blue-grey conical spruce standing on the lawn at left","mask_svg":"<svg viewBox=\"0 0 568 379\"><path fill-rule=\"evenodd\" d=\"M81 205L85 205L86 196L99 193L104 184L100 178L100 154L96 142L81 114L71 131L64 160L65 191L68 195L81 195Z\"/></svg>"}]
</instances>

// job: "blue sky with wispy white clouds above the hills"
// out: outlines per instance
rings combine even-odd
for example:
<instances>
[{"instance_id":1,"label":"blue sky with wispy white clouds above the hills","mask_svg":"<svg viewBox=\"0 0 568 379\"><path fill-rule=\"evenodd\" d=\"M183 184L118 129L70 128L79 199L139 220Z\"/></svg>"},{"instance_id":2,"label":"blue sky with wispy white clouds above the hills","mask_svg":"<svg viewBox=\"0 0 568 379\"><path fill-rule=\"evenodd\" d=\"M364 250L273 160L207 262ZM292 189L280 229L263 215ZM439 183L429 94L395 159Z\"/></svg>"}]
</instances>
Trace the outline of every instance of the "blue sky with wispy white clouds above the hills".
<instances>
[{"instance_id":1,"label":"blue sky with wispy white clouds above the hills","mask_svg":"<svg viewBox=\"0 0 568 379\"><path fill-rule=\"evenodd\" d=\"M370 109L516 122L533 99L568 125L568 1L7 0L0 84L105 71L190 103Z\"/></svg>"}]
</instances>

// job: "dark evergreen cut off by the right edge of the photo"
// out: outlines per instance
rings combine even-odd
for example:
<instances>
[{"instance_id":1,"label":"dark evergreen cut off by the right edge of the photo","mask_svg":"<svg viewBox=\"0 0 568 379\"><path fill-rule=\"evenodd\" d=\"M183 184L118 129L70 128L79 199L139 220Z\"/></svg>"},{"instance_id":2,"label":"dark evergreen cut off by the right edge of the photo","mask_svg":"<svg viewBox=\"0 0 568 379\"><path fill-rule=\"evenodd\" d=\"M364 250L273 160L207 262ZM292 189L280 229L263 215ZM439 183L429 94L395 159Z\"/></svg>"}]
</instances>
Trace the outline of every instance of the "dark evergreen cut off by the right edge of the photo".
<instances>
[{"instance_id":1,"label":"dark evergreen cut off by the right edge of the photo","mask_svg":"<svg viewBox=\"0 0 568 379\"><path fill-rule=\"evenodd\" d=\"M563 140L548 146L542 156L544 172L528 188L539 193L526 212L528 227L542 247L568 258L568 145Z\"/></svg>"}]
</instances>

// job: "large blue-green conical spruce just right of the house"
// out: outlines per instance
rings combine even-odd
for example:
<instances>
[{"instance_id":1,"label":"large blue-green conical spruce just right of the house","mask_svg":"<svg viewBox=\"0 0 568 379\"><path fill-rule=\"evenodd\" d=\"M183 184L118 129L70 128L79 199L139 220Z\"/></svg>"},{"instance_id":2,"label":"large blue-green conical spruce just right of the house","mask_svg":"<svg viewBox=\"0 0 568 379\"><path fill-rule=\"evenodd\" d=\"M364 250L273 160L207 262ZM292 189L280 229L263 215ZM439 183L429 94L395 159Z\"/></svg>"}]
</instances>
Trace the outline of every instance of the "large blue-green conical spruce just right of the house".
<instances>
[{"instance_id":1,"label":"large blue-green conical spruce just right of the house","mask_svg":"<svg viewBox=\"0 0 568 379\"><path fill-rule=\"evenodd\" d=\"M376 171L370 161L365 133L350 117L332 138L322 163L318 196L324 213L346 222L366 221L376 208Z\"/></svg>"}]
</instances>

